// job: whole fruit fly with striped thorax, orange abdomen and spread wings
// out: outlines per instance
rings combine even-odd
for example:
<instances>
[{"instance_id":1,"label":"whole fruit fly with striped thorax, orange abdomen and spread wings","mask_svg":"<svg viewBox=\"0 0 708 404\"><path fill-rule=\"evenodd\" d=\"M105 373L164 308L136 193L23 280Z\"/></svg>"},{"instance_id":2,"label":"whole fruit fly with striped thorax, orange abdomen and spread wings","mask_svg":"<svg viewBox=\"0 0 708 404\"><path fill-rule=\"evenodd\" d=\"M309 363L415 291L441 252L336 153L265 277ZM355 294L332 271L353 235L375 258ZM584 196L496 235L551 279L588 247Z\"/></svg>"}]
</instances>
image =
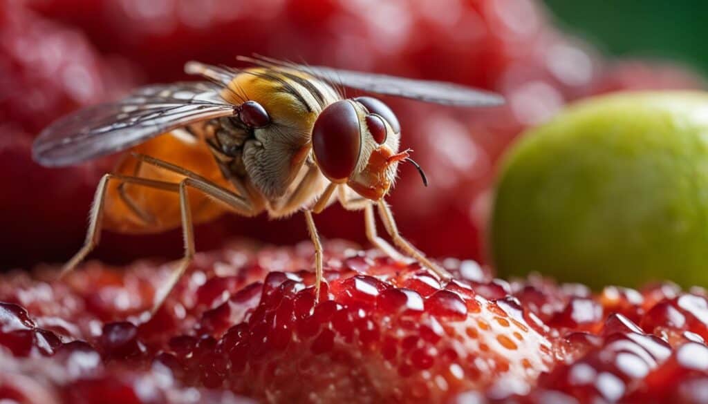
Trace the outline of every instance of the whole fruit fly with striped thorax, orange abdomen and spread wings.
<instances>
[{"instance_id":1,"label":"whole fruit fly with striped thorax, orange abdomen and spread wings","mask_svg":"<svg viewBox=\"0 0 708 404\"><path fill-rule=\"evenodd\" d=\"M312 215L338 200L345 209L364 211L373 246L396 260L408 255L450 279L401 236L384 200L401 162L416 166L426 183L409 151L399 150L396 115L376 98L344 98L341 88L463 107L503 100L452 83L239 59L251 67L188 62L185 71L205 80L139 88L63 117L40 134L33 156L43 166L130 150L98 183L86 241L62 275L96 247L101 229L147 233L181 226L184 256L156 294L154 312L195 254L194 223L228 211L246 217L265 211L273 218L302 211L319 296L322 246ZM398 249L378 236L375 209Z\"/></svg>"}]
</instances>

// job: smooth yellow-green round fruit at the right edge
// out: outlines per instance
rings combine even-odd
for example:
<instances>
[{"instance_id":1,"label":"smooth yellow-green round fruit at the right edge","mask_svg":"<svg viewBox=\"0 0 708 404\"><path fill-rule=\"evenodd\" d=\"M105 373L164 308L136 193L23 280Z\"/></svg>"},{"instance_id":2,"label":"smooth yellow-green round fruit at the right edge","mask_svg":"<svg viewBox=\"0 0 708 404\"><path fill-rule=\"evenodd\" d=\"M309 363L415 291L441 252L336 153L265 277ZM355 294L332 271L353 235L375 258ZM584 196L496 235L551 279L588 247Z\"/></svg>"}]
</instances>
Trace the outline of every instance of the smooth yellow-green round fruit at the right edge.
<instances>
[{"instance_id":1,"label":"smooth yellow-green round fruit at the right edge","mask_svg":"<svg viewBox=\"0 0 708 404\"><path fill-rule=\"evenodd\" d=\"M625 93L527 132L496 185L498 271L595 288L708 284L706 108L704 93Z\"/></svg>"}]
</instances>

